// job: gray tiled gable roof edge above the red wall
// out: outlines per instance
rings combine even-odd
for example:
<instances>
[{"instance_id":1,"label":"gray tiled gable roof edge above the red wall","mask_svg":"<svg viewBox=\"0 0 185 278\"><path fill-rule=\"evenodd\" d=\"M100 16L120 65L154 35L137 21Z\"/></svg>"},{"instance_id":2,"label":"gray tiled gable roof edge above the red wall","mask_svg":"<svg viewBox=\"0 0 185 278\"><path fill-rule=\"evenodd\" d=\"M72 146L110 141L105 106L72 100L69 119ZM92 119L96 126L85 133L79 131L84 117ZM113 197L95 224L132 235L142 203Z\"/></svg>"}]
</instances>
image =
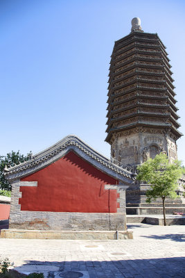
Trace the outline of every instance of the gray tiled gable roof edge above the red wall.
<instances>
[{"instance_id":1,"label":"gray tiled gable roof edge above the red wall","mask_svg":"<svg viewBox=\"0 0 185 278\"><path fill-rule=\"evenodd\" d=\"M112 163L108 158L96 152L77 136L67 136L55 145L45 149L43 152L35 154L30 161L25 161L14 167L6 168L6 179L11 181L33 174L53 162L58 161L58 159L62 158L70 151L75 152L82 159L94 165L98 170L109 174L115 179L119 179L125 183L132 183L135 179L135 175L132 172Z\"/></svg>"}]
</instances>

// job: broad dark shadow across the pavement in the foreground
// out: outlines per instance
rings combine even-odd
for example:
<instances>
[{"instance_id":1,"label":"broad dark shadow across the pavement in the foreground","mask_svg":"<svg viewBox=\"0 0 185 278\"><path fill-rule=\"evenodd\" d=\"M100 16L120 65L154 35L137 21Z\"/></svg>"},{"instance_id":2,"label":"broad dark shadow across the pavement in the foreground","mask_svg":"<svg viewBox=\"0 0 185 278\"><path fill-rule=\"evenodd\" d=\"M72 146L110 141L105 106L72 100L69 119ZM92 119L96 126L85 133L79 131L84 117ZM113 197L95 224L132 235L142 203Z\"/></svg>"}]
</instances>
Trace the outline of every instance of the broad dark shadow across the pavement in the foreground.
<instances>
[{"instance_id":1,"label":"broad dark shadow across the pavement in the foreground","mask_svg":"<svg viewBox=\"0 0 185 278\"><path fill-rule=\"evenodd\" d=\"M116 259L112 256L112 261L27 261L19 268L28 271L40 268L44 271L44 265L49 272L48 277L83 277L73 272L88 272L89 278L166 278L185 277L185 259L183 257L159 258L159 259ZM49 271L53 266L58 267L58 272ZM20 271L20 270L19 270ZM58 276L59 275L59 276ZM87 276L84 276L87 277Z\"/></svg>"}]
</instances>

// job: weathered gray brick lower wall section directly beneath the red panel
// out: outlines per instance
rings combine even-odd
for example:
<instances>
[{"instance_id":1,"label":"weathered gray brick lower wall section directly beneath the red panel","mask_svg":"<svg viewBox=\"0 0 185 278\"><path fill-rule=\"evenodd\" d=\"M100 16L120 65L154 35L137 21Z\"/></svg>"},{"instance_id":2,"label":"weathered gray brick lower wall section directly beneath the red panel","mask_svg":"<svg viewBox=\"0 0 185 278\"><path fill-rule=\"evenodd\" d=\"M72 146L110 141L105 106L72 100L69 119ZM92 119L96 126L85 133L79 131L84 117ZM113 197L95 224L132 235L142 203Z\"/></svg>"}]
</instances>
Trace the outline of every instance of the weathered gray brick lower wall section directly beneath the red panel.
<instances>
[{"instance_id":1,"label":"weathered gray brick lower wall section directly beneath the red panel","mask_svg":"<svg viewBox=\"0 0 185 278\"><path fill-rule=\"evenodd\" d=\"M58 213L50 211L19 211L12 213L10 229L53 231L115 231L126 230L125 213Z\"/></svg>"}]
</instances>

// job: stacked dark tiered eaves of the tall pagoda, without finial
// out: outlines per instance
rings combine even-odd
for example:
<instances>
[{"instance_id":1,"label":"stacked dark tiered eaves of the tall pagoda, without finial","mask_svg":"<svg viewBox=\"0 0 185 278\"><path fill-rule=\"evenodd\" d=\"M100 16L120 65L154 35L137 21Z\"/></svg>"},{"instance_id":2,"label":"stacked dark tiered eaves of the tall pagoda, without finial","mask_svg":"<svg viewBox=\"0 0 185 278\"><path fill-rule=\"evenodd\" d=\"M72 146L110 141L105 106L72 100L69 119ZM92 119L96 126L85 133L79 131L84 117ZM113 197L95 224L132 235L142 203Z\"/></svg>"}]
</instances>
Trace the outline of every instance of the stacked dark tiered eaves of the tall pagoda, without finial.
<instances>
[{"instance_id":1,"label":"stacked dark tiered eaves of the tall pagoda, without finial","mask_svg":"<svg viewBox=\"0 0 185 278\"><path fill-rule=\"evenodd\" d=\"M114 44L109 67L107 142L136 126L168 130L177 140L173 72L166 47L156 33L133 30Z\"/></svg>"}]
</instances>

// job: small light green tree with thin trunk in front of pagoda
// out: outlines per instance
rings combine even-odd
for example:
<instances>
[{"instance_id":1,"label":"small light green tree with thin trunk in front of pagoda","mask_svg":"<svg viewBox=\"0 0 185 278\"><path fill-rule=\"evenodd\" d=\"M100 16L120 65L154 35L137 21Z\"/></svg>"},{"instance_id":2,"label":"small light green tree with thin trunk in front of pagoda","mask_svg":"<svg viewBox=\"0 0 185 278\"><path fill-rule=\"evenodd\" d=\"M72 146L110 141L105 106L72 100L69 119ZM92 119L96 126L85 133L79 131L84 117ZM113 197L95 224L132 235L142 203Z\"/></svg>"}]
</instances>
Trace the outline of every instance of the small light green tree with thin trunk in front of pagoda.
<instances>
[{"instance_id":1,"label":"small light green tree with thin trunk in front of pagoda","mask_svg":"<svg viewBox=\"0 0 185 278\"><path fill-rule=\"evenodd\" d=\"M139 174L136 177L139 181L146 181L150 189L146 191L146 202L161 197L163 202L164 225L166 226L165 199L177 198L177 181L184 172L181 161L170 163L166 154L157 154L154 159L150 158L137 167Z\"/></svg>"}]
</instances>

